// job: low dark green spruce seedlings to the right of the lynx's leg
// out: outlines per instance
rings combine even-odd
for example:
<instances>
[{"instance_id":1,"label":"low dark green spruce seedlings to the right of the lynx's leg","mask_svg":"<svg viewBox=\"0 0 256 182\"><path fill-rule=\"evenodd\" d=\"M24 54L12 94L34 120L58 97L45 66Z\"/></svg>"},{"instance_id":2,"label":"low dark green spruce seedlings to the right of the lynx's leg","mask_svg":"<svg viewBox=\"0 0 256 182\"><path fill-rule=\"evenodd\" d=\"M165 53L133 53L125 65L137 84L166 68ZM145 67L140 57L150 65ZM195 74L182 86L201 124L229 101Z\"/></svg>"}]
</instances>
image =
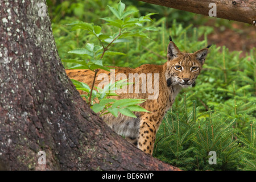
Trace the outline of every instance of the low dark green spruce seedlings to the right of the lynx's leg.
<instances>
[{"instance_id":1,"label":"low dark green spruce seedlings to the right of the lynx's leg","mask_svg":"<svg viewBox=\"0 0 256 182\"><path fill-rule=\"evenodd\" d=\"M238 138L237 119L226 118L214 110L196 114L196 102L187 109L183 104L171 109L156 137L154 156L186 170L255 170L255 129L251 136ZM208 117L201 117L208 114ZM254 132L254 133L253 133ZM217 164L209 164L210 151L215 151Z\"/></svg>"}]
</instances>

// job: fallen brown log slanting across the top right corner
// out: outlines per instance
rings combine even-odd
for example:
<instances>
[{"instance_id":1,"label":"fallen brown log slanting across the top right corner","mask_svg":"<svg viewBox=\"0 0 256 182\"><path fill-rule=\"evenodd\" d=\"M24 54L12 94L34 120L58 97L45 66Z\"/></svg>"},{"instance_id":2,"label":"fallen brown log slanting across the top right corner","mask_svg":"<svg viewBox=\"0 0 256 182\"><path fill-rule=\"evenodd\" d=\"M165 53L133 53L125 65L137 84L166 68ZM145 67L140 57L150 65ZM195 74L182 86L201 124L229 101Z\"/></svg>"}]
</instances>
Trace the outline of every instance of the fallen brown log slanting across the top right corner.
<instances>
[{"instance_id":1,"label":"fallen brown log slanting across the top right corner","mask_svg":"<svg viewBox=\"0 0 256 182\"><path fill-rule=\"evenodd\" d=\"M237 22L253 24L256 20L255 0L139 0L155 5L172 7L178 10L189 11L196 14L209 16L212 9L210 3L216 4L217 18L235 20ZM210 7L209 7L210 5ZM210 13L211 14L211 13ZM215 15L214 15L215 16ZM171 18L171 17L170 17ZM255 23L254 23L255 24Z\"/></svg>"}]
</instances>

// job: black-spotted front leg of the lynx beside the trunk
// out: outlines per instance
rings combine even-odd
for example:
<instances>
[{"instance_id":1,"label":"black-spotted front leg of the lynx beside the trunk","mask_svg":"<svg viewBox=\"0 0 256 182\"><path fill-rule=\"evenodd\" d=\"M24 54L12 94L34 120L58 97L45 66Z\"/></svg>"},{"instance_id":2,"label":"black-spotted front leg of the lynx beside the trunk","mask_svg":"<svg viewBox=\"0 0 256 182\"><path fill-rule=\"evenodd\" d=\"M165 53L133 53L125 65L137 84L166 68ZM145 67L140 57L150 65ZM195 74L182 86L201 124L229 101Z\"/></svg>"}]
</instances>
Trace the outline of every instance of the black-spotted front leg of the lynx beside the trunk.
<instances>
[{"instance_id":1,"label":"black-spotted front leg of the lynx beside the trunk","mask_svg":"<svg viewBox=\"0 0 256 182\"><path fill-rule=\"evenodd\" d=\"M150 115L141 119L139 127L138 148L147 154L152 155L153 153L155 134L158 126L156 126L156 123L152 121L152 116L150 117Z\"/></svg>"}]
</instances>

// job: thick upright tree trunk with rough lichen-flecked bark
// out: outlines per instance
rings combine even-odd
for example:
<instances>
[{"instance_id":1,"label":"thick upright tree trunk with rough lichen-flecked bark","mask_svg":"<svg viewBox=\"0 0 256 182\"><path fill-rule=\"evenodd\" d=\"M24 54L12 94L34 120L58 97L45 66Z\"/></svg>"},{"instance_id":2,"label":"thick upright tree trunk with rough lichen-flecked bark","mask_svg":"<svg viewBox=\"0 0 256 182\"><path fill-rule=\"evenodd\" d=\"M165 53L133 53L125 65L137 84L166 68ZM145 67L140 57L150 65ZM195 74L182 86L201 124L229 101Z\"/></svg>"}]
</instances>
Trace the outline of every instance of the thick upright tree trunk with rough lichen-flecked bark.
<instances>
[{"instance_id":1,"label":"thick upright tree trunk with rough lichen-flecked bark","mask_svg":"<svg viewBox=\"0 0 256 182\"><path fill-rule=\"evenodd\" d=\"M126 142L90 110L35 2L1 1L0 169L177 169Z\"/></svg>"}]
</instances>

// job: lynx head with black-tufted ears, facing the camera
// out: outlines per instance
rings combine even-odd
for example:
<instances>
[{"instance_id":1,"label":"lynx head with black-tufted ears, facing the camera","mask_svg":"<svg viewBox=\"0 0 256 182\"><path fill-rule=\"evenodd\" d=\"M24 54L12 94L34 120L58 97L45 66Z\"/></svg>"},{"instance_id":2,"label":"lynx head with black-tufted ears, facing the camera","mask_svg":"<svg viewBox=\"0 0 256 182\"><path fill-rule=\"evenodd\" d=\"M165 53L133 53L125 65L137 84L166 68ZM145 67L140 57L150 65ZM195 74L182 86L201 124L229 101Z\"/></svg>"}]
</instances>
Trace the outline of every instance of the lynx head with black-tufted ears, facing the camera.
<instances>
[{"instance_id":1,"label":"lynx head with black-tufted ears, facing the camera","mask_svg":"<svg viewBox=\"0 0 256 182\"><path fill-rule=\"evenodd\" d=\"M194 53L180 52L170 37L167 48L167 85L195 86L195 80L202 69L209 47Z\"/></svg>"}]
</instances>

